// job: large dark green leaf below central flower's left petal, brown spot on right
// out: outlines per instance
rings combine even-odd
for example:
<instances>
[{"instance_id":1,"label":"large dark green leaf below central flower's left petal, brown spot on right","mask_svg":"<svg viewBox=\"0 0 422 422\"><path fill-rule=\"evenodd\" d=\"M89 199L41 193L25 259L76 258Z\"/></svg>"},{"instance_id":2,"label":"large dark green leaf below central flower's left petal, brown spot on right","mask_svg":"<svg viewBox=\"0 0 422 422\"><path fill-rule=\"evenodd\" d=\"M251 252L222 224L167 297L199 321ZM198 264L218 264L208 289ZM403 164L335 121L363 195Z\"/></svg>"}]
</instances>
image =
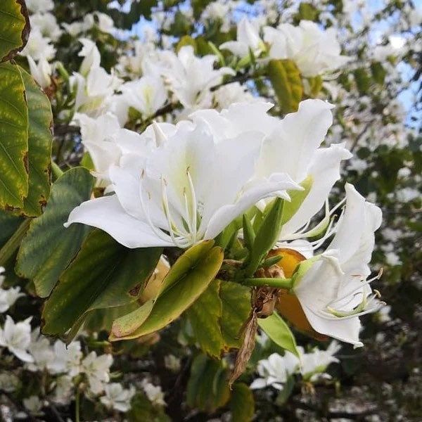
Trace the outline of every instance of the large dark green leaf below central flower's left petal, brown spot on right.
<instances>
[{"instance_id":1,"label":"large dark green leaf below central flower's left petal, brown spot on right","mask_svg":"<svg viewBox=\"0 0 422 422\"><path fill-rule=\"evenodd\" d=\"M161 248L125 248L101 230L87 236L44 305L43 333L76 334L89 312L134 302L160 259Z\"/></svg>"}]
</instances>

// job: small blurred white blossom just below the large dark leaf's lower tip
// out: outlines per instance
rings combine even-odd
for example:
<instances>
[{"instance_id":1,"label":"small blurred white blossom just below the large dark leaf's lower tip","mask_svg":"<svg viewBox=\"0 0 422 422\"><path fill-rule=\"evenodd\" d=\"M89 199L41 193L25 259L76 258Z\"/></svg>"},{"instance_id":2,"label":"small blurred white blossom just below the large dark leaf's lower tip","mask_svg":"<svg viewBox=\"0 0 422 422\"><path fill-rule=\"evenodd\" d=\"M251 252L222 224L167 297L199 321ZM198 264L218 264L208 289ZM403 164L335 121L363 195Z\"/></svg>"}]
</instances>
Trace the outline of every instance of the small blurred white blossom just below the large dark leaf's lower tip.
<instances>
[{"instance_id":1,"label":"small blurred white blossom just below the large dark leaf's lower tip","mask_svg":"<svg viewBox=\"0 0 422 422\"><path fill-rule=\"evenodd\" d=\"M73 341L66 346L61 340L54 343L54 359L47 364L51 373L68 373L69 376L76 376L81 371L81 344Z\"/></svg>"}]
</instances>

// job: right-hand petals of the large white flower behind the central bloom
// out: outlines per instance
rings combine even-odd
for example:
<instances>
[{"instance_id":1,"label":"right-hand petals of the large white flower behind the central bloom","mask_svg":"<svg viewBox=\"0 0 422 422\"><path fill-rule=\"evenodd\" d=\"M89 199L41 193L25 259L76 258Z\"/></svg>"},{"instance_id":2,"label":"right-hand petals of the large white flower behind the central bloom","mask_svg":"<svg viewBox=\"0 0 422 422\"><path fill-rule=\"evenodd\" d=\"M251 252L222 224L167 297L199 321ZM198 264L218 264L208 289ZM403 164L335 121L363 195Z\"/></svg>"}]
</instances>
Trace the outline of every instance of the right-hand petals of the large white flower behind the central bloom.
<instances>
[{"instance_id":1,"label":"right-hand petals of the large white flower behind the central bloom","mask_svg":"<svg viewBox=\"0 0 422 422\"><path fill-rule=\"evenodd\" d=\"M296 113L286 115L272 127L267 125L269 135L264 140L257 177L283 171L298 184L312 182L298 211L283 224L280 241L307 236L295 233L321 210L333 184L340 179L340 162L352 156L343 143L320 148L333 122L331 108L321 100L305 100Z\"/></svg>"}]
</instances>

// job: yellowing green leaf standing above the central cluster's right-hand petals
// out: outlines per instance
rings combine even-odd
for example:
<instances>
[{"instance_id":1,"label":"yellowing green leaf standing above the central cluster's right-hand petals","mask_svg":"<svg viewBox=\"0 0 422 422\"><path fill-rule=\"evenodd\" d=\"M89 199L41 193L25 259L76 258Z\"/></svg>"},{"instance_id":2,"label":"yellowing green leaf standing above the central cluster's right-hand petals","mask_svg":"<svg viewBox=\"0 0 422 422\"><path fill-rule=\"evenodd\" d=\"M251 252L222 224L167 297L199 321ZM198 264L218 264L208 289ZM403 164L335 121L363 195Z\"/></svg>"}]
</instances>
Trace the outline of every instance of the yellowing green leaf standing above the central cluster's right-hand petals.
<instances>
[{"instance_id":1,"label":"yellowing green leaf standing above the central cluster's right-hand petals","mask_svg":"<svg viewBox=\"0 0 422 422\"><path fill-rule=\"evenodd\" d=\"M279 100L281 111L298 111L302 100L302 77L298 66L292 60L269 60L268 76Z\"/></svg>"}]
</instances>

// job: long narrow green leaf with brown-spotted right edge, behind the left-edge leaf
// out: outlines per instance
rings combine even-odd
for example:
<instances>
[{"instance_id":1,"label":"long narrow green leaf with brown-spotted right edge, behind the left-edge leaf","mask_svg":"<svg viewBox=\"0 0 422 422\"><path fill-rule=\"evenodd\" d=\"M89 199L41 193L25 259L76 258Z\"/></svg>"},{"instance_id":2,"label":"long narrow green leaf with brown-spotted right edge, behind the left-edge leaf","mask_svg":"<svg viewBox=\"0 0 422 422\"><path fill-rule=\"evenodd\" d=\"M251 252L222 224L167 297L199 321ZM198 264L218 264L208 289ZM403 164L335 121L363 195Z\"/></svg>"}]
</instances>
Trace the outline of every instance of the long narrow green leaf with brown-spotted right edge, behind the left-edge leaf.
<instances>
[{"instance_id":1,"label":"long narrow green leaf with brown-spotted right edge, behind the left-edge leaf","mask_svg":"<svg viewBox=\"0 0 422 422\"><path fill-rule=\"evenodd\" d=\"M49 98L39 89L34 79L20 68L26 90L29 117L28 165L29 189L23 201L23 213L37 217L50 193L51 143L53 114Z\"/></svg>"}]
</instances>

